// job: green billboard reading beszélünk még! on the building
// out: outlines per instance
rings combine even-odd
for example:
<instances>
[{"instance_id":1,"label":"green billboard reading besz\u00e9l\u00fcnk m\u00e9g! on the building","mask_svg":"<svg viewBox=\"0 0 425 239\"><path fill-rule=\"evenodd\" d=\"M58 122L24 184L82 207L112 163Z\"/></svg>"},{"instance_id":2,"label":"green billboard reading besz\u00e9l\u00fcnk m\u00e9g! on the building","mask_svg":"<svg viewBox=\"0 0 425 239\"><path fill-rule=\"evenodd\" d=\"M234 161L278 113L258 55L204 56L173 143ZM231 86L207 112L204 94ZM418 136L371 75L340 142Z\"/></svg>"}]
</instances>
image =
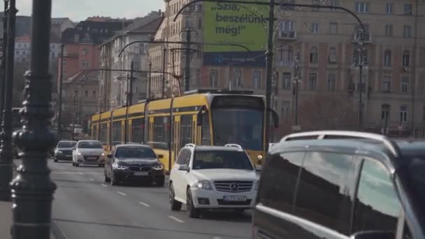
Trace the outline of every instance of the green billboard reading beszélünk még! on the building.
<instances>
[{"instance_id":1,"label":"green billboard reading besz\u00e9l\u00fcnk m\u00e9g! on the building","mask_svg":"<svg viewBox=\"0 0 425 239\"><path fill-rule=\"evenodd\" d=\"M253 3L259 0L248 0ZM267 1L262 1L267 2ZM268 6L243 3L205 2L203 41L237 43L250 51L265 51ZM244 52L243 48L204 45L204 52Z\"/></svg>"}]
</instances>

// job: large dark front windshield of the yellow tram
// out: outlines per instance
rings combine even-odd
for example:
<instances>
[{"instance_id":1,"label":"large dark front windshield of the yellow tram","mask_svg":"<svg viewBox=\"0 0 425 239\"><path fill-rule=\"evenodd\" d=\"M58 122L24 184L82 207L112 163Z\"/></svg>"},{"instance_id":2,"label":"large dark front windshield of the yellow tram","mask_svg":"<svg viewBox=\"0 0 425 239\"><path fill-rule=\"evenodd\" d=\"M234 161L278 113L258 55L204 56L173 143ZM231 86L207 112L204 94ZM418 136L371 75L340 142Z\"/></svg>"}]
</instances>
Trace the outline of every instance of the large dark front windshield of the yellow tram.
<instances>
[{"instance_id":1,"label":"large dark front windshield of the yellow tram","mask_svg":"<svg viewBox=\"0 0 425 239\"><path fill-rule=\"evenodd\" d=\"M247 150L263 150L264 112L249 109L214 109L214 144L236 143Z\"/></svg>"}]
</instances>

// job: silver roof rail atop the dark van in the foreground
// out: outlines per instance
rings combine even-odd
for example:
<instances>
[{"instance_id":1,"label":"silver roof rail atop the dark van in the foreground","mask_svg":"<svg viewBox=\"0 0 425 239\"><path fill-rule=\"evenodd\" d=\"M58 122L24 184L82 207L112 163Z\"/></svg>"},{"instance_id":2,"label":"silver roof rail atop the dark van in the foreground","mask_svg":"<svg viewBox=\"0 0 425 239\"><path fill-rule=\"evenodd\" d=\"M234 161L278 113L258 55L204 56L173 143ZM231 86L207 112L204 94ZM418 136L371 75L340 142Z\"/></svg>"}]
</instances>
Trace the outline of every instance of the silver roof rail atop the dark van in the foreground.
<instances>
[{"instance_id":1,"label":"silver roof rail atop the dark van in the foreground","mask_svg":"<svg viewBox=\"0 0 425 239\"><path fill-rule=\"evenodd\" d=\"M387 147L396 157L399 157L400 155L398 153L399 152L398 147L396 143L394 143L394 141L390 140L386 136L382 136L377 133L365 133L365 132L358 132L358 131L309 131L309 132L303 132L303 133L289 134L288 136L285 136L284 138L282 138L280 142L291 140L291 138L305 139L305 138L313 137L313 136L314 137L317 136L316 139L318 140L322 140L326 138L326 136L342 136L347 138L352 137L352 138L366 138L371 140L377 140L377 141L380 141L381 143L384 143L385 147Z\"/></svg>"}]
</instances>

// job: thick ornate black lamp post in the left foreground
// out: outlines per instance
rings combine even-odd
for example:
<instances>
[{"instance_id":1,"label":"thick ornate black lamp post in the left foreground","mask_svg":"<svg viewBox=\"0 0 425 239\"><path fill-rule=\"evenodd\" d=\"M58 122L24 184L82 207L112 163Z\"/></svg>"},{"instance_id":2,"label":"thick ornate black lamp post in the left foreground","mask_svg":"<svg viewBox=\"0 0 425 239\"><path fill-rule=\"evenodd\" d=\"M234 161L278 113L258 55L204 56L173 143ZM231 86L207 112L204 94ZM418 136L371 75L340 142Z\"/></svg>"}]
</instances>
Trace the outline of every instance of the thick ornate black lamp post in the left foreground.
<instances>
[{"instance_id":1,"label":"thick ornate black lamp post in the left foreground","mask_svg":"<svg viewBox=\"0 0 425 239\"><path fill-rule=\"evenodd\" d=\"M13 133L23 151L22 165L11 183L13 198L13 239L50 238L52 200L56 184L50 180L48 151L57 139L50 132L54 113L52 75L49 73L50 14L52 0L32 1L31 61L25 73L23 108L24 126Z\"/></svg>"}]
</instances>

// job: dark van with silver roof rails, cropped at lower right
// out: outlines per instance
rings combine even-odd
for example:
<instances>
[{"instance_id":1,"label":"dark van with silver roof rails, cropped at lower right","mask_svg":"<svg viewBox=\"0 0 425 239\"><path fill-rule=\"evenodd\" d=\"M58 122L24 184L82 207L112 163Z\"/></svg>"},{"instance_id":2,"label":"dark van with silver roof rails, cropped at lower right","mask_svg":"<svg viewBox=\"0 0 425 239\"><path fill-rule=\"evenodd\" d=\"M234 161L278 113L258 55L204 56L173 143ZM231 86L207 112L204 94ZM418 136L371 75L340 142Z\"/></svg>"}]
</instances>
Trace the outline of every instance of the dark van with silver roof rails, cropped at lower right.
<instances>
[{"instance_id":1,"label":"dark van with silver roof rails, cropped at lower right","mask_svg":"<svg viewBox=\"0 0 425 239\"><path fill-rule=\"evenodd\" d=\"M253 238L425 238L425 143L295 133L264 161Z\"/></svg>"}]
</instances>

